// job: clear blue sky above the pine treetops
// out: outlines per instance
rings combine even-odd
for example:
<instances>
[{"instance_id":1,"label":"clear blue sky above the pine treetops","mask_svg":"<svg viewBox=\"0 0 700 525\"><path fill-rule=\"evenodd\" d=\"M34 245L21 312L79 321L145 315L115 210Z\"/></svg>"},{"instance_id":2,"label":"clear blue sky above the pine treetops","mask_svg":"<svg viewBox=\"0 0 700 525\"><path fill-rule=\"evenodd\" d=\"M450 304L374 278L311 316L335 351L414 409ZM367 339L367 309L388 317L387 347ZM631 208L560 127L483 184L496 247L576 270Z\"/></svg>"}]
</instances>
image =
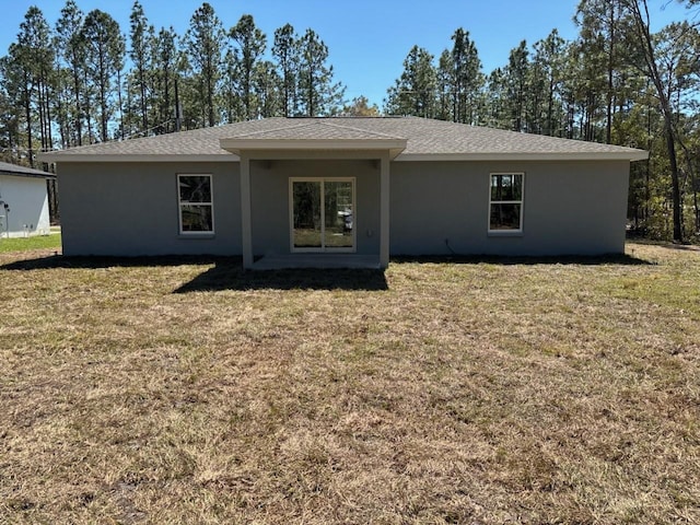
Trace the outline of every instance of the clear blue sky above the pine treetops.
<instances>
[{"instance_id":1,"label":"clear blue sky above the pine treetops","mask_svg":"<svg viewBox=\"0 0 700 525\"><path fill-rule=\"evenodd\" d=\"M129 32L132 0L77 0L89 12L102 9ZM156 30L173 26L187 31L201 0L141 0ZM271 43L275 30L285 23L298 33L307 27L318 33L330 50L336 80L347 86L347 97L364 95L382 106L386 90L401 73L402 61L413 45L440 56L451 46L457 27L469 32L485 72L508 62L509 52L522 39L532 45L552 28L567 39L576 36L572 22L578 0L209 0L229 28L242 14L254 16ZM58 20L65 0L0 0L0 52L14 40L24 14L38 5L49 24ZM675 0L650 0L656 27L682 20L687 12Z\"/></svg>"}]
</instances>

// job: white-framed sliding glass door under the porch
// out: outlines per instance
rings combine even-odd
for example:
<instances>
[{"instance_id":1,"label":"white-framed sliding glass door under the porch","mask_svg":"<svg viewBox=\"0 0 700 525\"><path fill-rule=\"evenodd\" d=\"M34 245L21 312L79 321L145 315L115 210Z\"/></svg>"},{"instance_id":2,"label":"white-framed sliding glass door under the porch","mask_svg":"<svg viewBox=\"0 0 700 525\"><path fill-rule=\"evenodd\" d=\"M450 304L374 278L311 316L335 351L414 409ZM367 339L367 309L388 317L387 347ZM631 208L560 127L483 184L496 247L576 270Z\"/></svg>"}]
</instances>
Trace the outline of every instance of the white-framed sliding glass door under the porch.
<instances>
[{"instance_id":1,"label":"white-framed sliding glass door under the porch","mask_svg":"<svg viewBox=\"0 0 700 525\"><path fill-rule=\"evenodd\" d=\"M292 252L354 252L354 179L290 179Z\"/></svg>"}]
</instances>

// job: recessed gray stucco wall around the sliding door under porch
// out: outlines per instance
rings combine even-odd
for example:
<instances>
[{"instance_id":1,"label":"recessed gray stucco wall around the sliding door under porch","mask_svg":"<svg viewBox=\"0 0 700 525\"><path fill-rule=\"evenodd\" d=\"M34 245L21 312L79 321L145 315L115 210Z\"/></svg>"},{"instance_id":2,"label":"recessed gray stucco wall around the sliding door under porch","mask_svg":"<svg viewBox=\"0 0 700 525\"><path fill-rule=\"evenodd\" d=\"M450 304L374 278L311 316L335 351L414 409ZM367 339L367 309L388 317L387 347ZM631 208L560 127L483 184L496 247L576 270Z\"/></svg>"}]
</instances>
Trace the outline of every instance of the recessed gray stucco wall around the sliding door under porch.
<instances>
[{"instance_id":1,"label":"recessed gray stucco wall around the sliding door under porch","mask_svg":"<svg viewBox=\"0 0 700 525\"><path fill-rule=\"evenodd\" d=\"M253 253L289 254L291 177L354 177L357 254L380 253L380 167L368 160L252 161Z\"/></svg>"}]
</instances>

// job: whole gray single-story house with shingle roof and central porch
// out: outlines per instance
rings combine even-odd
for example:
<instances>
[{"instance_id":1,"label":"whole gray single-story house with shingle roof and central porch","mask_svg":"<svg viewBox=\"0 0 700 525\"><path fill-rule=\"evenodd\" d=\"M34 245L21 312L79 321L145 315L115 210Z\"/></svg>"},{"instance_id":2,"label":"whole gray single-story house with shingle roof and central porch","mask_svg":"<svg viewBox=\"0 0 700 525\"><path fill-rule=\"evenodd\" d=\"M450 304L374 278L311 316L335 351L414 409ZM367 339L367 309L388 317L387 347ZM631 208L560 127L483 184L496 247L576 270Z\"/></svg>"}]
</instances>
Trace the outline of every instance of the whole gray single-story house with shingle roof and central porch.
<instances>
[{"instance_id":1,"label":"whole gray single-story house with shingle roof and central porch","mask_svg":"<svg viewBox=\"0 0 700 525\"><path fill-rule=\"evenodd\" d=\"M643 150L417 117L268 118L45 153L66 255L622 253Z\"/></svg>"}]
</instances>

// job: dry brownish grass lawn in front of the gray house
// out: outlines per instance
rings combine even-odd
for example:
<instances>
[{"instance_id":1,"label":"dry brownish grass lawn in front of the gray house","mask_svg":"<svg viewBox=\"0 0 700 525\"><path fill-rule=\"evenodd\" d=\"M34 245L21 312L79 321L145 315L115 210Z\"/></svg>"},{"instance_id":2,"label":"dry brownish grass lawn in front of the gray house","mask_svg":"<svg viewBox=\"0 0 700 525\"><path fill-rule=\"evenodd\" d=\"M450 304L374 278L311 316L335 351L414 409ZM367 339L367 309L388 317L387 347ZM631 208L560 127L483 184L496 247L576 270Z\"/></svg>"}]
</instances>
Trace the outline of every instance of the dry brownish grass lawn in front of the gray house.
<instances>
[{"instance_id":1,"label":"dry brownish grass lawn in front of the gray house","mask_svg":"<svg viewBox=\"0 0 700 525\"><path fill-rule=\"evenodd\" d=\"M0 523L700 523L698 250L26 258L0 254Z\"/></svg>"}]
</instances>

